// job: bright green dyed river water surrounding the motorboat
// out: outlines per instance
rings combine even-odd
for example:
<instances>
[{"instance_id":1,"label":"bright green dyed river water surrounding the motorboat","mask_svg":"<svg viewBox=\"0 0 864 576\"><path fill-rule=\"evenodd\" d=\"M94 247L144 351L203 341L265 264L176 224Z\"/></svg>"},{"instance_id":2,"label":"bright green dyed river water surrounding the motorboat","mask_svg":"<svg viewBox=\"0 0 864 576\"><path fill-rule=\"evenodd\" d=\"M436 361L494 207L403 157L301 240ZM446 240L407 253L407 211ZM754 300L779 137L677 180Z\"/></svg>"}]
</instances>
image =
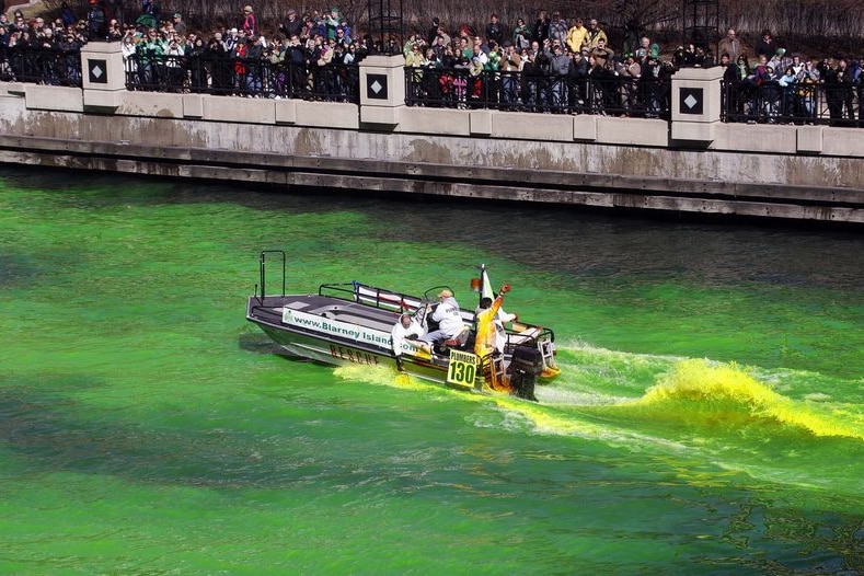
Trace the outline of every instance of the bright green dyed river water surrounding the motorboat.
<instances>
[{"instance_id":1,"label":"bright green dyed river water surrounding the motorboat","mask_svg":"<svg viewBox=\"0 0 864 576\"><path fill-rule=\"evenodd\" d=\"M864 573L864 241L0 174L0 573ZM273 354L289 283L552 326L539 404Z\"/></svg>"}]
</instances>

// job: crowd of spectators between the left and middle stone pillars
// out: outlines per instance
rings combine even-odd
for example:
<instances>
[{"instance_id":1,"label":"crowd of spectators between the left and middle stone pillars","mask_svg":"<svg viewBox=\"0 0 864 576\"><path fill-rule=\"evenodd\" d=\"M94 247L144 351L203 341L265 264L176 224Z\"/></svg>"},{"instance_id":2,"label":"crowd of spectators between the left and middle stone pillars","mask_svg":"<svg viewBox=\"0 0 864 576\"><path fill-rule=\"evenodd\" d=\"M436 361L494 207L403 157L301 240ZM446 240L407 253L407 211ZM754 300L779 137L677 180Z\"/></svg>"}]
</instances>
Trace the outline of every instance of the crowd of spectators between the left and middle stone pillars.
<instances>
[{"instance_id":1,"label":"crowd of spectators between the left and middle stone pillars","mask_svg":"<svg viewBox=\"0 0 864 576\"><path fill-rule=\"evenodd\" d=\"M220 27L209 37L187 32L180 12L164 21L151 15L153 22L145 14L122 36L130 88L353 100L356 65L373 50L337 8L302 18L288 10L269 38L251 4L243 7L237 27Z\"/></svg>"}]
</instances>

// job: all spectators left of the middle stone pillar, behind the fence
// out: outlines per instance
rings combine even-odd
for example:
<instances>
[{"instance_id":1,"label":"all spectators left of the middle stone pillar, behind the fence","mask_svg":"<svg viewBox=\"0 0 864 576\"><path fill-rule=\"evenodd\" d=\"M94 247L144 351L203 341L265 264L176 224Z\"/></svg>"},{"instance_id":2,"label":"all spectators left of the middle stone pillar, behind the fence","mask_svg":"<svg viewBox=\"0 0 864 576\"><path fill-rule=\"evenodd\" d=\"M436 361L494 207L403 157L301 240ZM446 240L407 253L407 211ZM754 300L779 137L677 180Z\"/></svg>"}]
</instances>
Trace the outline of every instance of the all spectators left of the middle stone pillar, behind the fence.
<instances>
[{"instance_id":1,"label":"all spectators left of the middle stone pillar, behind the fence","mask_svg":"<svg viewBox=\"0 0 864 576\"><path fill-rule=\"evenodd\" d=\"M235 26L209 35L191 31L181 12L164 14L159 0L143 0L128 20L112 10L119 5L89 0L87 13L76 14L64 3L61 15L48 23L26 21L21 11L11 22L0 16L0 80L80 85L81 46L119 42L133 90L345 100L356 96L355 65L383 49L368 36L357 37L337 8L302 16L289 10L267 37L251 4Z\"/></svg>"}]
</instances>

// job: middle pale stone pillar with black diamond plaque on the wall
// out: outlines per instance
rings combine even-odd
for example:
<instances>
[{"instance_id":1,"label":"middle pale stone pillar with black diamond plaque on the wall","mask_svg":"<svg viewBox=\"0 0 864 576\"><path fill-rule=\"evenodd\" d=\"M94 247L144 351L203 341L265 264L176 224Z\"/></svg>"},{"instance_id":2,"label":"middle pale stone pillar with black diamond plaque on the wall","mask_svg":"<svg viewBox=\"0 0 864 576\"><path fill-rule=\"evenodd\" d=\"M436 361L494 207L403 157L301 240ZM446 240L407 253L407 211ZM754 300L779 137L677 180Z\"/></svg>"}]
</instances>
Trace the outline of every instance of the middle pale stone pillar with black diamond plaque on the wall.
<instances>
[{"instance_id":1,"label":"middle pale stone pillar with black diamond plaque on the wall","mask_svg":"<svg viewBox=\"0 0 864 576\"><path fill-rule=\"evenodd\" d=\"M405 107L405 58L367 56L359 66L360 123L395 128Z\"/></svg>"}]
</instances>

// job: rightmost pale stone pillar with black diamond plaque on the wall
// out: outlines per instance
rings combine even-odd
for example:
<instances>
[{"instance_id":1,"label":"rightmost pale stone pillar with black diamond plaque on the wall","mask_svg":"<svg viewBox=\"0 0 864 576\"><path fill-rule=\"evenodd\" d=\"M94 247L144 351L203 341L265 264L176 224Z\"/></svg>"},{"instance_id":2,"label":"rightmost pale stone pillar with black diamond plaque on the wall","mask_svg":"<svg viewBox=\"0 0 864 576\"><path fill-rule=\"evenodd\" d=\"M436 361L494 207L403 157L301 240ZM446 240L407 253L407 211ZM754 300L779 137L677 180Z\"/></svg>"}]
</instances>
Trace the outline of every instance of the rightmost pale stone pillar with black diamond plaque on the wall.
<instances>
[{"instance_id":1,"label":"rightmost pale stone pillar with black diamond plaque on the wall","mask_svg":"<svg viewBox=\"0 0 864 576\"><path fill-rule=\"evenodd\" d=\"M721 120L724 68L682 68L672 77L672 141L707 148Z\"/></svg>"}]
</instances>

